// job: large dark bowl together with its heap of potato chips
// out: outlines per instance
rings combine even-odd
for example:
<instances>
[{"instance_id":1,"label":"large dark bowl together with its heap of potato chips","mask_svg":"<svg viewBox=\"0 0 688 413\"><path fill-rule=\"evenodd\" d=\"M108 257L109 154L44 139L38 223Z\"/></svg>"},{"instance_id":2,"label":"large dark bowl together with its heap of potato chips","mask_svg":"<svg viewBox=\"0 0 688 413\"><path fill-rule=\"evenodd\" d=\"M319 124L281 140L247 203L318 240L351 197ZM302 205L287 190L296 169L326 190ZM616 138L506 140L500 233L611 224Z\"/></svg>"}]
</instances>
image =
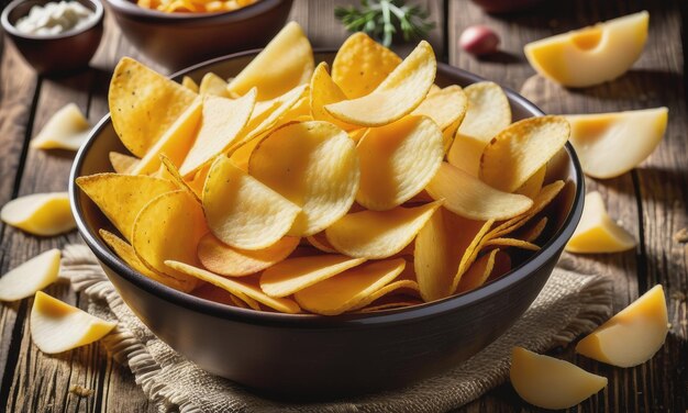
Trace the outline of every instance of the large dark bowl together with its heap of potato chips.
<instances>
[{"instance_id":1,"label":"large dark bowl together with its heap of potato chips","mask_svg":"<svg viewBox=\"0 0 688 413\"><path fill-rule=\"evenodd\" d=\"M458 366L533 302L582 211L568 124L426 42L313 52L290 23L173 79L124 58L109 103L73 168L80 234L158 337L260 393Z\"/></svg>"}]
</instances>

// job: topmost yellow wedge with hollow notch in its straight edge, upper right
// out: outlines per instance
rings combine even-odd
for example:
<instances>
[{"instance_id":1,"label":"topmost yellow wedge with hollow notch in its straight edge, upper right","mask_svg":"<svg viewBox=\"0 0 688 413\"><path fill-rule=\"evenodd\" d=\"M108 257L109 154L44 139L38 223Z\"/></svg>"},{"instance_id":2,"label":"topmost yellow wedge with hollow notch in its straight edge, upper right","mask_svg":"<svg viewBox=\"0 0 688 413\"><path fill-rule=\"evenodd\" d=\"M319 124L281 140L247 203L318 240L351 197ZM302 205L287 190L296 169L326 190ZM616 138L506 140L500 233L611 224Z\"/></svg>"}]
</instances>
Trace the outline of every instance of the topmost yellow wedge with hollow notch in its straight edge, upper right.
<instances>
[{"instance_id":1,"label":"topmost yellow wedge with hollow notch in its straight edge, upper right","mask_svg":"<svg viewBox=\"0 0 688 413\"><path fill-rule=\"evenodd\" d=\"M529 43L525 57L542 76L581 88L613 80L637 60L647 40L650 13L598 23Z\"/></svg>"}]
</instances>

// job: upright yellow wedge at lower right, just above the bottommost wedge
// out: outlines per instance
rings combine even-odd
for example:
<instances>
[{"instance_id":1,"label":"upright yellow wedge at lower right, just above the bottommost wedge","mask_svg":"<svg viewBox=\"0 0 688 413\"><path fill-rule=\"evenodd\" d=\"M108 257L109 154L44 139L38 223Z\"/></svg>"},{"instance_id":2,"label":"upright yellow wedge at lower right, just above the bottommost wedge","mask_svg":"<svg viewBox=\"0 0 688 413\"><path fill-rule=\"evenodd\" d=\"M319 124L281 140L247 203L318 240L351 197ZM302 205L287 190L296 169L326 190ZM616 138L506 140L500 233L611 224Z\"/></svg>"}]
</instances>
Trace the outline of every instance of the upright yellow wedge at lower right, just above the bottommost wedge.
<instances>
[{"instance_id":1,"label":"upright yellow wedge at lower right, just above the bottommost wedge","mask_svg":"<svg viewBox=\"0 0 688 413\"><path fill-rule=\"evenodd\" d=\"M578 342L576 351L613 366L633 367L662 348L668 331L664 289L657 284Z\"/></svg>"}]
</instances>

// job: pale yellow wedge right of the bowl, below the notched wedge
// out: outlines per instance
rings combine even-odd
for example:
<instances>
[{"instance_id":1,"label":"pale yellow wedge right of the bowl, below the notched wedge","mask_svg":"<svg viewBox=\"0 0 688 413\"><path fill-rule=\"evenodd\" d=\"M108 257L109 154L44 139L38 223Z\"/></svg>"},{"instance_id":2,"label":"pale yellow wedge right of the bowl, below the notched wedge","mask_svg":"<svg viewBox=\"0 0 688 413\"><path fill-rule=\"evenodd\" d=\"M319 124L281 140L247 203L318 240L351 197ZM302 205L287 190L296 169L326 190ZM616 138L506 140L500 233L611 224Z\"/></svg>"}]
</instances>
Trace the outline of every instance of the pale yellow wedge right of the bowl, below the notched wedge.
<instances>
[{"instance_id":1,"label":"pale yellow wedge right of the bowl, below the notched wedge","mask_svg":"<svg viewBox=\"0 0 688 413\"><path fill-rule=\"evenodd\" d=\"M668 109L565 116L570 143L582 171L593 178L614 178L635 168L659 145Z\"/></svg>"}]
</instances>

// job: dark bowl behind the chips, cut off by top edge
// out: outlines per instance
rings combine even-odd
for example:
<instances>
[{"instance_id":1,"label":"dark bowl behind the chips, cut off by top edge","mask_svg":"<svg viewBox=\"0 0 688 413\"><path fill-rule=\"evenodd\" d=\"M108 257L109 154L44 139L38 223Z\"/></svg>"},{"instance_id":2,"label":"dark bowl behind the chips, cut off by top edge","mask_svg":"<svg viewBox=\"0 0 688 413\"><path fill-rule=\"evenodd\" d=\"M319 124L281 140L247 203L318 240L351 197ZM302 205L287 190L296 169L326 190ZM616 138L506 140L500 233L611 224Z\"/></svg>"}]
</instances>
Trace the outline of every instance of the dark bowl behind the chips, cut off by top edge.
<instances>
[{"instance_id":1,"label":"dark bowl behind the chips, cut off by top edge","mask_svg":"<svg viewBox=\"0 0 688 413\"><path fill-rule=\"evenodd\" d=\"M173 70L265 46L284 26L291 2L259 0L221 13L166 13L141 8L134 0L107 0L124 36Z\"/></svg>"}]
</instances>

